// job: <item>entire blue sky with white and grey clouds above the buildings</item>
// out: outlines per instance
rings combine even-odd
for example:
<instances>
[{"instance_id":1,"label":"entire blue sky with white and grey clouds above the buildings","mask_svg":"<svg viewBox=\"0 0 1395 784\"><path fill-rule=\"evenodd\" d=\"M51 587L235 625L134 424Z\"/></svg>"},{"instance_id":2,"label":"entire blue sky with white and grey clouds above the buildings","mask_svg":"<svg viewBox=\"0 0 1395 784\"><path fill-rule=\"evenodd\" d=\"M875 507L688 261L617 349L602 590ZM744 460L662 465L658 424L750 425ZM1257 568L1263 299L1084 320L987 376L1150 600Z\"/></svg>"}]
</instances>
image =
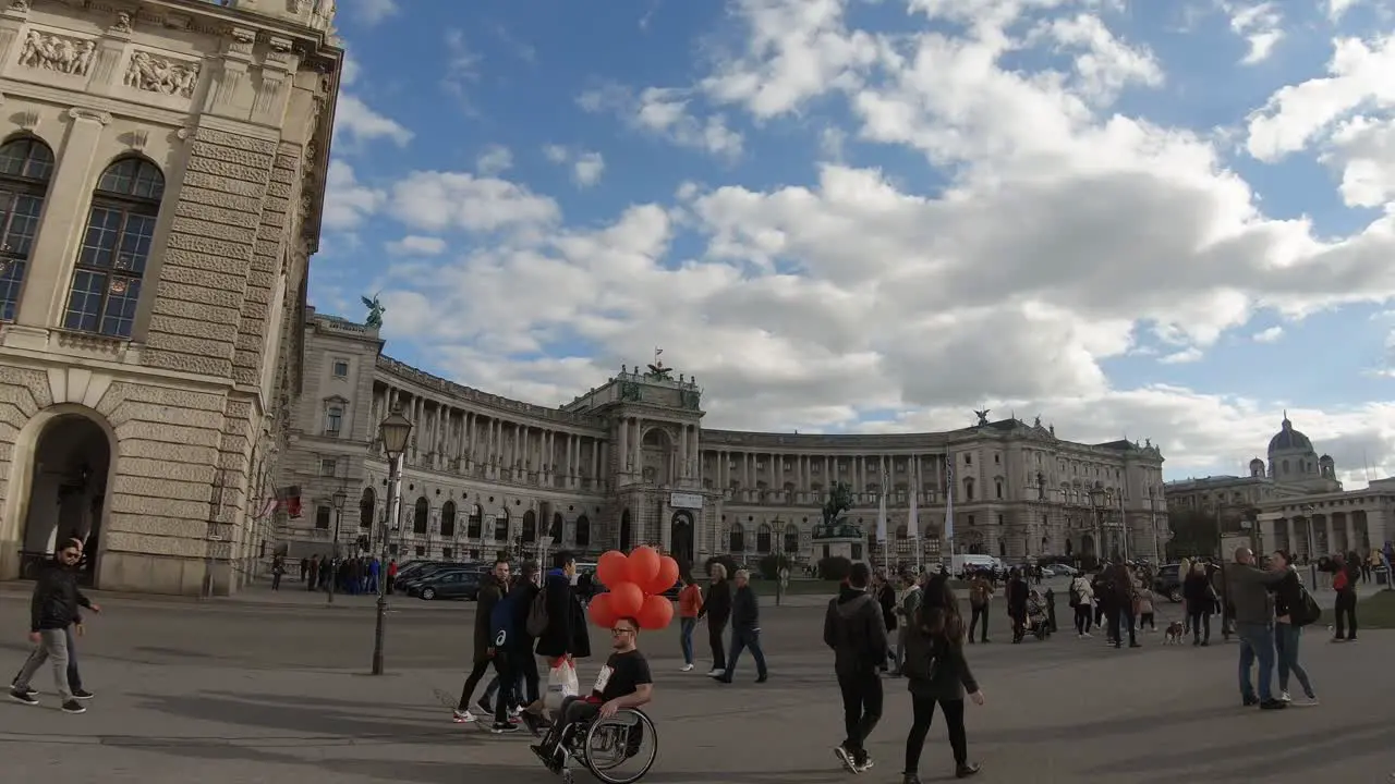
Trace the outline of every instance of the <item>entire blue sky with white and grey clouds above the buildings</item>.
<instances>
[{"instance_id":1,"label":"entire blue sky with white and grey clouds above the buildings","mask_svg":"<svg viewBox=\"0 0 1395 784\"><path fill-rule=\"evenodd\" d=\"M311 301L557 405L1395 473L1395 0L340 0ZM1367 467L1368 466L1368 467Z\"/></svg>"}]
</instances>

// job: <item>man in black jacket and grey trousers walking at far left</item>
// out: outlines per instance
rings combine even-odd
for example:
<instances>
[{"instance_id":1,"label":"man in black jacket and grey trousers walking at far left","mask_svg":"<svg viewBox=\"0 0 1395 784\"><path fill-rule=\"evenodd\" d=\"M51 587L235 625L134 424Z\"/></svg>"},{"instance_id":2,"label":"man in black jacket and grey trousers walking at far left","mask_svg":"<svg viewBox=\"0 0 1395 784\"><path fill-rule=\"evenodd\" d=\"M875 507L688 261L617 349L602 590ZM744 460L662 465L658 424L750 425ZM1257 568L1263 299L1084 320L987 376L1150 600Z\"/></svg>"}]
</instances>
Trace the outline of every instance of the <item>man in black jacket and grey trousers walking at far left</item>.
<instances>
[{"instance_id":1,"label":"man in black jacket and grey trousers walking at far left","mask_svg":"<svg viewBox=\"0 0 1395 784\"><path fill-rule=\"evenodd\" d=\"M82 558L82 548L66 541L53 564L39 575L29 603L29 642L36 650L29 656L10 689L10 699L22 704L39 704L29 689L29 681L45 661L53 667L53 682L61 698L64 713L86 713L68 686L68 626L78 619L78 607L100 612L100 608L78 590L78 576L73 566Z\"/></svg>"}]
</instances>

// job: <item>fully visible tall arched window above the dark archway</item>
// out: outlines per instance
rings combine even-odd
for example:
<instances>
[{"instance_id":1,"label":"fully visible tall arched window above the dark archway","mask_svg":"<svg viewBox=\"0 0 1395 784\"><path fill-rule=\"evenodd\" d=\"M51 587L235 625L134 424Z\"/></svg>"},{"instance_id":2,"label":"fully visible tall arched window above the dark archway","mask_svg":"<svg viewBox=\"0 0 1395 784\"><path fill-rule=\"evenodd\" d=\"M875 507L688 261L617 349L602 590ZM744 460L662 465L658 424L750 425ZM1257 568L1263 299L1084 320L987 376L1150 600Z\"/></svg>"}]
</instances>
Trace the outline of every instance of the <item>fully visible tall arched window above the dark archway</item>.
<instances>
[{"instance_id":1,"label":"fully visible tall arched window above the dark archway","mask_svg":"<svg viewBox=\"0 0 1395 784\"><path fill-rule=\"evenodd\" d=\"M73 269L64 329L131 336L163 197L165 176L144 158L123 158L102 172Z\"/></svg>"}]
</instances>

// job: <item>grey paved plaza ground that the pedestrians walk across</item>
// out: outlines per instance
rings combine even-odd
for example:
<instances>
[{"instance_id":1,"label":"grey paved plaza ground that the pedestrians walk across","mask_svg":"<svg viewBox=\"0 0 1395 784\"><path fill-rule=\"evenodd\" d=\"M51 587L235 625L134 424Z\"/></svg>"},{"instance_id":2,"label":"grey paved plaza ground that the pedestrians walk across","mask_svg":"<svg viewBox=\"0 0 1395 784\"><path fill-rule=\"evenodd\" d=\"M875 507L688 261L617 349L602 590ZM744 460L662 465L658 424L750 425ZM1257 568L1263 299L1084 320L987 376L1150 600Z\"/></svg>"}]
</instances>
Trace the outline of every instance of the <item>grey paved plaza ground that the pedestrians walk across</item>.
<instances>
[{"instance_id":1,"label":"grey paved plaza ground that the pedestrians walk across","mask_svg":"<svg viewBox=\"0 0 1395 784\"><path fill-rule=\"evenodd\" d=\"M21 589L22 590L22 589ZM389 621L388 667L367 675L371 601L250 591L241 601L158 601L102 597L106 612L80 642L91 710L0 704L7 780L50 784L205 781L460 784L557 781L527 751L526 734L492 737L449 721L470 656L473 605L403 600ZM660 759L646 781L686 784L831 783L848 778L831 755L841 737L830 656L817 607L767 607L769 684L752 682L744 660L737 684L678 672L675 633L642 646L658 677L651 706ZM999 610L999 608L995 608ZM25 654L27 597L0 590L0 654ZM1388 674L1395 636L1357 644L1310 635L1304 658L1324 704L1282 713L1242 710L1235 644L1141 650L1057 636L1048 643L970 650L988 706L970 706L971 753L982 781L1108 780L1309 784L1341 766L1343 781L1387 781L1395 770ZM603 635L593 643L607 644ZM582 679L594 663L582 667ZM869 745L877 766L861 778L898 781L910 724L901 681L887 681L887 709ZM930 731L926 781L950 780L944 730ZM1102 778L1108 777L1108 778ZM580 774L578 781L589 777Z\"/></svg>"}]
</instances>

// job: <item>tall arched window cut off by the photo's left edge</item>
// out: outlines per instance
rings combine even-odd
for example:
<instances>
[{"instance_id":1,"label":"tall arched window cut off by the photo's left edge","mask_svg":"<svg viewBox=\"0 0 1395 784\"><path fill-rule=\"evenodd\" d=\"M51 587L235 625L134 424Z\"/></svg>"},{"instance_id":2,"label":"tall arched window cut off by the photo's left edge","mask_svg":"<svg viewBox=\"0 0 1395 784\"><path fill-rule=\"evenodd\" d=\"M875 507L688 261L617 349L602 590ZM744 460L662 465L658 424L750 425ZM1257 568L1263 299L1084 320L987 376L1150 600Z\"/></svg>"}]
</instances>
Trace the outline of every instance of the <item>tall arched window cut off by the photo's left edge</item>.
<instances>
[{"instance_id":1,"label":"tall arched window cut off by the photo's left edge","mask_svg":"<svg viewBox=\"0 0 1395 784\"><path fill-rule=\"evenodd\" d=\"M53 151L32 137L0 146L0 321L14 321L43 197L53 174Z\"/></svg>"}]
</instances>

